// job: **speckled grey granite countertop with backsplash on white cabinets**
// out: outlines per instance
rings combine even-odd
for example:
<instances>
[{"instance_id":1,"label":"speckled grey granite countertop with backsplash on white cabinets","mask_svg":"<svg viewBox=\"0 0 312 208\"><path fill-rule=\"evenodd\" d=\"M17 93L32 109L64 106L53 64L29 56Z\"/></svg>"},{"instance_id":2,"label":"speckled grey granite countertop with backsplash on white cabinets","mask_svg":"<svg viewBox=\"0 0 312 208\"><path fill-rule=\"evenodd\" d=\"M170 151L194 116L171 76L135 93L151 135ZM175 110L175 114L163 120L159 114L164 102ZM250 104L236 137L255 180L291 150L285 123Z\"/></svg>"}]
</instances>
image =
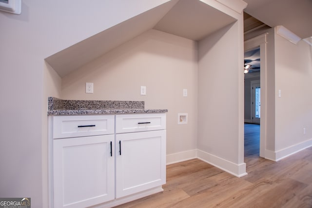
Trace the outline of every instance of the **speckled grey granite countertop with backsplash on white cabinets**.
<instances>
[{"instance_id":1,"label":"speckled grey granite countertop with backsplash on white cabinets","mask_svg":"<svg viewBox=\"0 0 312 208\"><path fill-rule=\"evenodd\" d=\"M166 113L166 109L144 109L144 101L85 101L48 98L48 115Z\"/></svg>"}]
</instances>

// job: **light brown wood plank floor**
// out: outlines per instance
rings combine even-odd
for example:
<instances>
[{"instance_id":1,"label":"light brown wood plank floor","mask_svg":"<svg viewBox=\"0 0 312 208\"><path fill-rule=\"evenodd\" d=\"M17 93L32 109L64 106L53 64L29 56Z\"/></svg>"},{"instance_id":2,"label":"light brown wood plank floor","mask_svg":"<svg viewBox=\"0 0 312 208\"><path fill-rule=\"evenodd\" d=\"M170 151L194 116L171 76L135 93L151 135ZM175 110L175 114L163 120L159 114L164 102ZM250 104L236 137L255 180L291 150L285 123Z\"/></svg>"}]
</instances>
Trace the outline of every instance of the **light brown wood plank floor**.
<instances>
[{"instance_id":1,"label":"light brown wood plank floor","mask_svg":"<svg viewBox=\"0 0 312 208\"><path fill-rule=\"evenodd\" d=\"M247 176L198 159L176 163L167 166L163 192L118 208L312 208L312 147L278 162L252 152Z\"/></svg>"}]
</instances>

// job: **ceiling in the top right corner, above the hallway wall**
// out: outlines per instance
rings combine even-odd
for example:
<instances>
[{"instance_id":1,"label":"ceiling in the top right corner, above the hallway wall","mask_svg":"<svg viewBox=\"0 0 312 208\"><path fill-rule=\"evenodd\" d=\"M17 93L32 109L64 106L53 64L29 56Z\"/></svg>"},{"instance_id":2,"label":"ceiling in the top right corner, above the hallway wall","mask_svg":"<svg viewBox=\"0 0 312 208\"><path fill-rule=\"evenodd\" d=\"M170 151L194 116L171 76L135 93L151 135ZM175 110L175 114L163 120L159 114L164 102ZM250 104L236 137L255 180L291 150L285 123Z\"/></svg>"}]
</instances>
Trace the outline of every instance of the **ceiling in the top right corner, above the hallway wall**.
<instances>
[{"instance_id":1,"label":"ceiling in the top right corner, above the hallway wall","mask_svg":"<svg viewBox=\"0 0 312 208\"><path fill-rule=\"evenodd\" d=\"M283 25L302 39L312 36L312 0L244 1L244 11L270 27Z\"/></svg>"}]
</instances>

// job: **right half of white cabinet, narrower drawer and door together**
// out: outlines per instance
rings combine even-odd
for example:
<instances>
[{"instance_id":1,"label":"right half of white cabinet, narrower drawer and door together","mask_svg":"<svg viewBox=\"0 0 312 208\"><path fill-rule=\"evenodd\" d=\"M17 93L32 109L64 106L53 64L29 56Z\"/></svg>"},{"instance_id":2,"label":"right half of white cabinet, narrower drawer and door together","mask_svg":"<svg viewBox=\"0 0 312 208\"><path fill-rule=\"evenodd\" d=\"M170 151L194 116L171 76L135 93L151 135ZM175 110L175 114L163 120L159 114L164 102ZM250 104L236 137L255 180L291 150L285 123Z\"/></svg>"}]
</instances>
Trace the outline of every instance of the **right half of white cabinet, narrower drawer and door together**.
<instances>
[{"instance_id":1,"label":"right half of white cabinet, narrower drawer and door together","mask_svg":"<svg viewBox=\"0 0 312 208\"><path fill-rule=\"evenodd\" d=\"M166 183L165 129L165 114L116 115L117 198Z\"/></svg>"}]
</instances>

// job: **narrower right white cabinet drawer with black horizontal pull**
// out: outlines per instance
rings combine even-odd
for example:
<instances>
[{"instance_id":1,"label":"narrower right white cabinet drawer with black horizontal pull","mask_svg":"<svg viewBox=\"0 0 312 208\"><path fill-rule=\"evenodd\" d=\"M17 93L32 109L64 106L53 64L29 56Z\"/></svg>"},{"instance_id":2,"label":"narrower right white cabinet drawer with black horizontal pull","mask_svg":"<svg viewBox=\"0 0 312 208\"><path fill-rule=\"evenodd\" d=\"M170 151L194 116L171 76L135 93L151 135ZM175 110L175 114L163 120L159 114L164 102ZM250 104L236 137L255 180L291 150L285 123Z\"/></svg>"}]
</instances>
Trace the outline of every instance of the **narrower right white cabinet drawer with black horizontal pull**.
<instances>
[{"instance_id":1,"label":"narrower right white cabinet drawer with black horizontal pull","mask_svg":"<svg viewBox=\"0 0 312 208\"><path fill-rule=\"evenodd\" d=\"M166 129L166 114L128 114L116 116L116 133Z\"/></svg>"}]
</instances>

